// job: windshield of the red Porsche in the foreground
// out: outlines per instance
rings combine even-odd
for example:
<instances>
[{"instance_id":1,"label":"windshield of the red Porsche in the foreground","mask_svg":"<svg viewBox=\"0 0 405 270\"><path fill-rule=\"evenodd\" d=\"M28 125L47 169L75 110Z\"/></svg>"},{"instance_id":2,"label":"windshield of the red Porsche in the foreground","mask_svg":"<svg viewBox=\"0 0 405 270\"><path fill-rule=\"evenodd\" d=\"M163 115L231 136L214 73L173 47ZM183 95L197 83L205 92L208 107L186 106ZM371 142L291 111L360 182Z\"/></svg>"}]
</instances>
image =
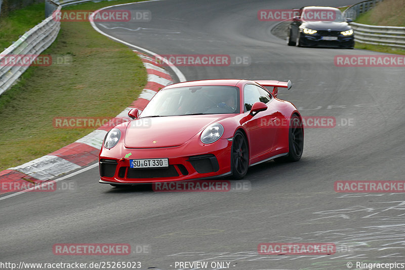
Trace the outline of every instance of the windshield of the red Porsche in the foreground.
<instances>
[{"instance_id":1,"label":"windshield of the red Porsche in the foreground","mask_svg":"<svg viewBox=\"0 0 405 270\"><path fill-rule=\"evenodd\" d=\"M239 88L192 86L157 92L140 117L239 112Z\"/></svg>"}]
</instances>

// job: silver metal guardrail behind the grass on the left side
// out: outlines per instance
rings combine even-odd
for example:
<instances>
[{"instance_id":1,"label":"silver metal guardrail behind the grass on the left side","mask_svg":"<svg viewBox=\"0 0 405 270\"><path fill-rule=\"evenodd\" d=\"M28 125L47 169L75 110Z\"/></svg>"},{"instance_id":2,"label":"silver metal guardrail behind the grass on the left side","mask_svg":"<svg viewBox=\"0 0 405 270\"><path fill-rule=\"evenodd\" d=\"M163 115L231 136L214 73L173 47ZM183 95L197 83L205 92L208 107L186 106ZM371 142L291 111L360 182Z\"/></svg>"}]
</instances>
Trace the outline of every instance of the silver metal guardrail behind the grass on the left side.
<instances>
[{"instance_id":1,"label":"silver metal guardrail behind the grass on the left side","mask_svg":"<svg viewBox=\"0 0 405 270\"><path fill-rule=\"evenodd\" d=\"M57 5L56 11L62 7L75 5L92 0L49 0ZM51 9L54 10L54 9ZM46 12L49 15L49 6ZM52 11L51 11L52 12ZM8 90L29 67L27 64L12 64L18 56L35 56L45 51L55 41L60 30L60 22L54 20L52 15L41 23L25 32L13 45L0 53L0 95Z\"/></svg>"}]
</instances>

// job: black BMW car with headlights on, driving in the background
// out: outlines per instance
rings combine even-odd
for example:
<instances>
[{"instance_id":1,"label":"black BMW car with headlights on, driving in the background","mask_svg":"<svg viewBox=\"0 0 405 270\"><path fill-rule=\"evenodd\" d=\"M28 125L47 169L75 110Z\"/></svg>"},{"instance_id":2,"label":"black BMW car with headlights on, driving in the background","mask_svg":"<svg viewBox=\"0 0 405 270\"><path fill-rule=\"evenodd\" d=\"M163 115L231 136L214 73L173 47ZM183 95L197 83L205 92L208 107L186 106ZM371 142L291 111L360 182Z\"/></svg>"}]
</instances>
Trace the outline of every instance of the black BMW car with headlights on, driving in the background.
<instances>
[{"instance_id":1,"label":"black BMW car with headlights on, driving in the background","mask_svg":"<svg viewBox=\"0 0 405 270\"><path fill-rule=\"evenodd\" d=\"M338 47L353 49L353 29L340 10L330 7L304 7L291 22L287 43L298 47Z\"/></svg>"}]
</instances>

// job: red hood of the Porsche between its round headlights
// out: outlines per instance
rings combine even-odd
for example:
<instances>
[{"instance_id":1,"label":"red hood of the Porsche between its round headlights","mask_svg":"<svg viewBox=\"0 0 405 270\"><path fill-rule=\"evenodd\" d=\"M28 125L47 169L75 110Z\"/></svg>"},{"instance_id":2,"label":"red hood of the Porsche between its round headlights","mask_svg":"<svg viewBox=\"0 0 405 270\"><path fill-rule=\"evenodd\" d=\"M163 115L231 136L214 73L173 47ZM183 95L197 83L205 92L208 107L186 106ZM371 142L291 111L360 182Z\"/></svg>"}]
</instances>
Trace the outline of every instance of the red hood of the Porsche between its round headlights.
<instances>
[{"instance_id":1,"label":"red hood of the Porsche between its round headlights","mask_svg":"<svg viewBox=\"0 0 405 270\"><path fill-rule=\"evenodd\" d=\"M179 146L211 123L233 114L184 115L132 120L125 133L125 147L159 148Z\"/></svg>"}]
</instances>

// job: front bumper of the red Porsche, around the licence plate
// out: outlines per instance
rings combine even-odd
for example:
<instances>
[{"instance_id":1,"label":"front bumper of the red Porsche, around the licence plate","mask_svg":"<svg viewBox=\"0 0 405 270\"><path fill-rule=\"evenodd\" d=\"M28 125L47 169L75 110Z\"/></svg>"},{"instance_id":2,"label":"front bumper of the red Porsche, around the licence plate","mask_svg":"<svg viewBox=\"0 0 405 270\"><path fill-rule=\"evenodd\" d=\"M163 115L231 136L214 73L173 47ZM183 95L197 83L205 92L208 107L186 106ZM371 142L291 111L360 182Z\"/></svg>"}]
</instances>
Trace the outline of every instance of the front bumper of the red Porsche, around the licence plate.
<instances>
[{"instance_id":1,"label":"front bumper of the red Porsche, around the licence plate","mask_svg":"<svg viewBox=\"0 0 405 270\"><path fill-rule=\"evenodd\" d=\"M136 184L221 177L230 174L232 141L213 144L186 143L176 147L102 149L99 156L100 183ZM113 148L115 148L113 147ZM119 153L118 153L119 152ZM131 153L130 158L125 157ZM111 155L113 154L113 155ZM130 168L131 159L168 158L168 168Z\"/></svg>"}]
</instances>

